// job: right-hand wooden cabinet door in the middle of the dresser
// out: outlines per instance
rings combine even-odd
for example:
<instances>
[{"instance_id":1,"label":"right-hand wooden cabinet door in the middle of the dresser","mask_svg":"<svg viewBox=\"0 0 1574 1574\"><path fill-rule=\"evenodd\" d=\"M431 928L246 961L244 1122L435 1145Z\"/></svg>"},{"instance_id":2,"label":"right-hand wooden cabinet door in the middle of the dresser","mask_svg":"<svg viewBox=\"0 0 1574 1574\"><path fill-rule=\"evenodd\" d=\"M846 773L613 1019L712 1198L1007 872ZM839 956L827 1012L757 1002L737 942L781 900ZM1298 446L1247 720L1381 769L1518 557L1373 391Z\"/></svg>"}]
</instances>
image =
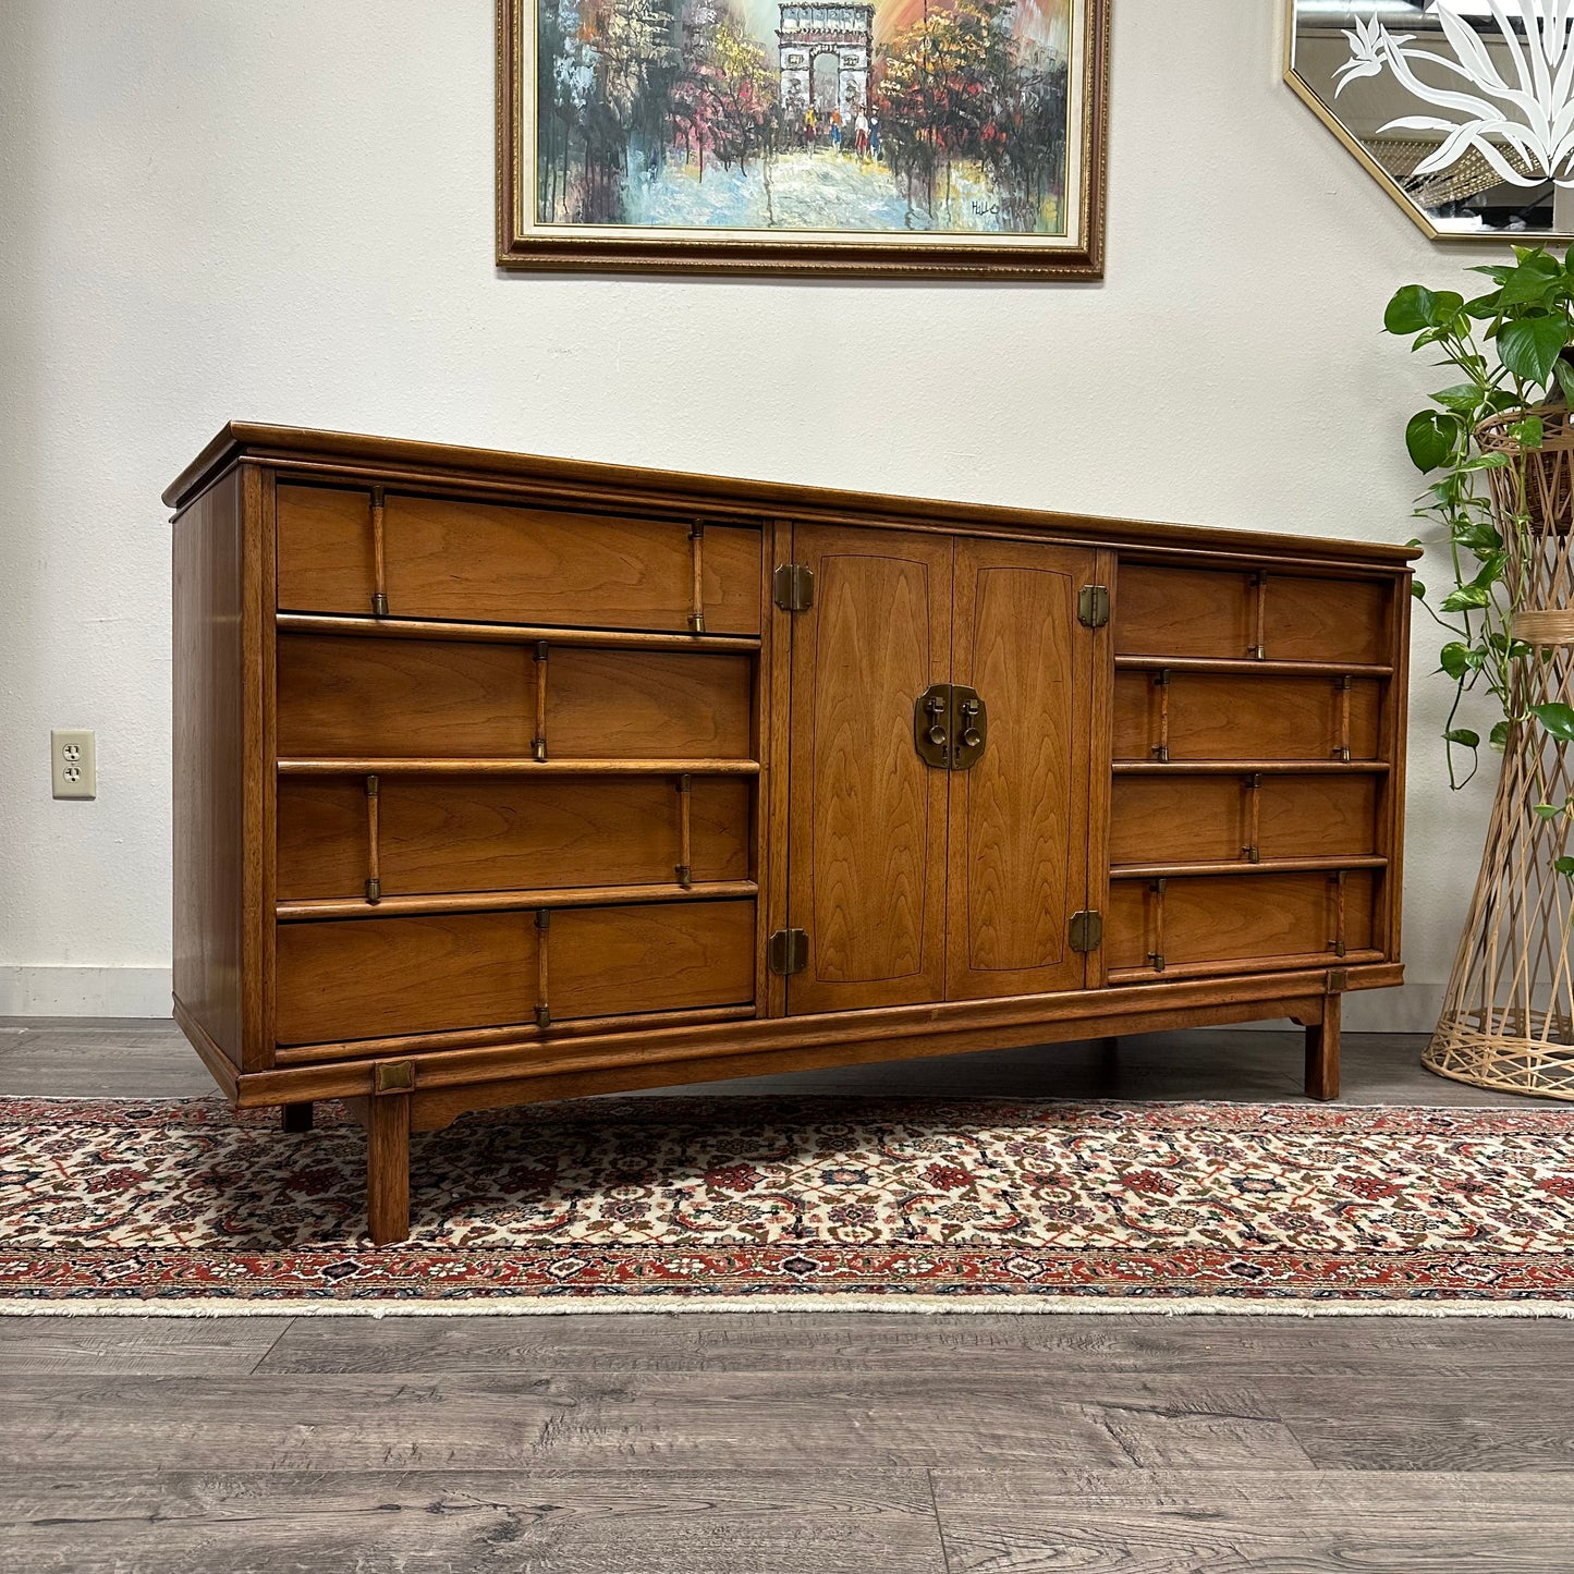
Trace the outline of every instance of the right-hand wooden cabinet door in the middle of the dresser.
<instances>
[{"instance_id":1,"label":"right-hand wooden cabinet door in the middle of the dresser","mask_svg":"<svg viewBox=\"0 0 1574 1574\"><path fill-rule=\"evenodd\" d=\"M1088 902L1094 554L959 541L951 680L987 708L982 757L951 776L948 999L1081 988L1067 924Z\"/></svg>"}]
</instances>

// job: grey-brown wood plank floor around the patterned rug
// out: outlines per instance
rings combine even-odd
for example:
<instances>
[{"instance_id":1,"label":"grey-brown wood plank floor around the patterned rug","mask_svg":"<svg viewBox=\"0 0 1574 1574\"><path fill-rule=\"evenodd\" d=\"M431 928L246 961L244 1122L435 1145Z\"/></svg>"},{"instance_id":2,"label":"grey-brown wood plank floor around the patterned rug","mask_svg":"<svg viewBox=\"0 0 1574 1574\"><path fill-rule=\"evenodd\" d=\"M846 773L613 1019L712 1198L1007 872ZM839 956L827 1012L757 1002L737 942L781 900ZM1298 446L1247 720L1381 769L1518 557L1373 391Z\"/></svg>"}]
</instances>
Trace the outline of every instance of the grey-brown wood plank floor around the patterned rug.
<instances>
[{"instance_id":1,"label":"grey-brown wood plank floor around the patterned rug","mask_svg":"<svg viewBox=\"0 0 1574 1574\"><path fill-rule=\"evenodd\" d=\"M1516 1103L1346 1040L1360 1103ZM716 1092L1292 1099L1176 1034ZM189 1097L167 1023L0 1020L0 1094ZM1574 1569L1574 1324L1424 1317L14 1317L0 1569Z\"/></svg>"}]
</instances>

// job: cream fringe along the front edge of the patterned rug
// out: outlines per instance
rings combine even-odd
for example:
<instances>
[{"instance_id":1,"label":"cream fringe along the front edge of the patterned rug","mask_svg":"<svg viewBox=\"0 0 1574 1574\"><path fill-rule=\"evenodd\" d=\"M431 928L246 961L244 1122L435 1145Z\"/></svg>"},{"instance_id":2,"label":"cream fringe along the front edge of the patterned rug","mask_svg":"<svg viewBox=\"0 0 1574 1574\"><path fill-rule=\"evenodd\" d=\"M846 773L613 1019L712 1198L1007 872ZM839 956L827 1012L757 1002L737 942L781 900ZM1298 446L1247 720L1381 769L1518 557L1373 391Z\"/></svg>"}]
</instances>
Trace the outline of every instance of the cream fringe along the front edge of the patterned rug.
<instances>
[{"instance_id":1,"label":"cream fringe along the front edge of the patterned rug","mask_svg":"<svg viewBox=\"0 0 1574 1574\"><path fill-rule=\"evenodd\" d=\"M0 1317L570 1317L733 1311L877 1311L970 1316L1162 1316L1162 1317L1557 1317L1574 1321L1566 1300L1232 1300L1187 1295L512 1295L499 1300L11 1300Z\"/></svg>"}]
</instances>

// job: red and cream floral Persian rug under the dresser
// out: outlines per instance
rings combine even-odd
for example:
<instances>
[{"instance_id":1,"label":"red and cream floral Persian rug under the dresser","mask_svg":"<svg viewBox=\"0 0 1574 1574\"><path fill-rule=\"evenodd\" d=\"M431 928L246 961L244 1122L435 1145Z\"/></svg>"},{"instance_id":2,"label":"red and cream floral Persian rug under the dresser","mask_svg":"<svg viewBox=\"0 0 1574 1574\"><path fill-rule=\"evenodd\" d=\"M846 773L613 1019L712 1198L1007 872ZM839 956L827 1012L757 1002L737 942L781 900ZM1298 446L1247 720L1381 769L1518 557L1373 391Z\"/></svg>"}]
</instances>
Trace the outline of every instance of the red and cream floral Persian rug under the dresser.
<instances>
[{"instance_id":1,"label":"red and cream floral Persian rug under the dresser","mask_svg":"<svg viewBox=\"0 0 1574 1574\"><path fill-rule=\"evenodd\" d=\"M0 1310L1574 1314L1574 1110L660 1097L412 1140L0 1100Z\"/></svg>"}]
</instances>

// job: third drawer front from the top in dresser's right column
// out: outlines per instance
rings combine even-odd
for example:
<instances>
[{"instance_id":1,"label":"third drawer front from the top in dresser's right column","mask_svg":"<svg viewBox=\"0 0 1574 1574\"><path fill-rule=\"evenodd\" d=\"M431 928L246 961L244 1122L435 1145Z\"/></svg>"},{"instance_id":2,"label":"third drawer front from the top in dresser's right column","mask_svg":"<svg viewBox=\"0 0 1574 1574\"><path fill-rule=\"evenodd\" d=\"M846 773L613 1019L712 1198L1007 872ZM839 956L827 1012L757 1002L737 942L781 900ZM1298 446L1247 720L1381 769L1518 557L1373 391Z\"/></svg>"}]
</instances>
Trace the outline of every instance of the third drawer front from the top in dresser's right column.
<instances>
[{"instance_id":1,"label":"third drawer front from the top in dresser's right column","mask_svg":"<svg viewBox=\"0 0 1574 1574\"><path fill-rule=\"evenodd\" d=\"M1259 778L1258 856L1349 858L1377 852L1374 776ZM1113 864L1234 863L1251 847L1247 776L1118 776Z\"/></svg>"}]
</instances>

